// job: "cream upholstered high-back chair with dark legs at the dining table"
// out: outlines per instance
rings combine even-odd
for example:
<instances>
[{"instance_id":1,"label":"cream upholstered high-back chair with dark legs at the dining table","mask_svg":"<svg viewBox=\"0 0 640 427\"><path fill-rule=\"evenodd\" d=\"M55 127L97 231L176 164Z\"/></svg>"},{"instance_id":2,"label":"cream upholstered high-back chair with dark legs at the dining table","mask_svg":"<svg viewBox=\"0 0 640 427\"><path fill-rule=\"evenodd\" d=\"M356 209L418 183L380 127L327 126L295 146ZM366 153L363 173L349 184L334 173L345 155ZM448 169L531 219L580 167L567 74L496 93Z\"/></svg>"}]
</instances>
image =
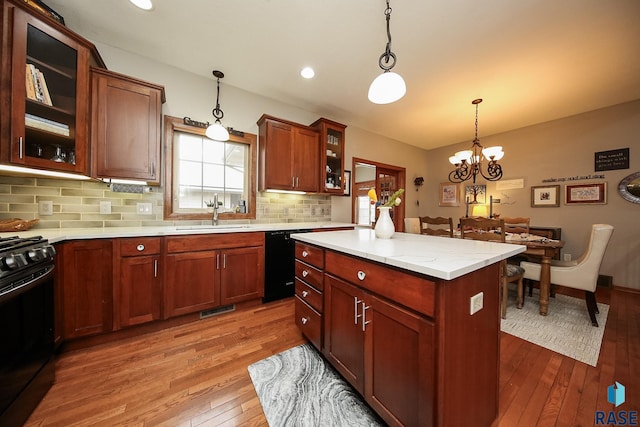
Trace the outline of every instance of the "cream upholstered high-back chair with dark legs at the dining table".
<instances>
[{"instance_id":1,"label":"cream upholstered high-back chair with dark legs at the dining table","mask_svg":"<svg viewBox=\"0 0 640 427\"><path fill-rule=\"evenodd\" d=\"M611 233L613 233L613 226L593 224L589 246L580 258L575 261L551 261L551 284L584 290L587 310L593 326L598 326L596 320L598 305L595 294L598 273ZM540 281L540 264L523 261L520 266L524 268L525 279Z\"/></svg>"}]
</instances>

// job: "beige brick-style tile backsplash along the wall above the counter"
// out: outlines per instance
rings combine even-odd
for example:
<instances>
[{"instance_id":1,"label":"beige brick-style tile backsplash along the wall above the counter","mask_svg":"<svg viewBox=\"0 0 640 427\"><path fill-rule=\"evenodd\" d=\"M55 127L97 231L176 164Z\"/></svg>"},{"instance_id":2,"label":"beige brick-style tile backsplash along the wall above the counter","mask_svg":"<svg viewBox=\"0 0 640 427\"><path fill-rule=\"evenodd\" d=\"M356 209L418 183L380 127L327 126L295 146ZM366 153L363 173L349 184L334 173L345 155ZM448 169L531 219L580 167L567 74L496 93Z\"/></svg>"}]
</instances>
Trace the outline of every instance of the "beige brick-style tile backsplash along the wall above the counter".
<instances>
[{"instance_id":1,"label":"beige brick-style tile backsplash along the wall above the counter","mask_svg":"<svg viewBox=\"0 0 640 427\"><path fill-rule=\"evenodd\" d=\"M106 183L55 178L0 175L0 219L39 218L34 228L145 227L187 221L162 218L162 188L149 193L113 192ZM38 203L53 202L53 215L39 215ZM100 213L100 202L111 202L111 213ZM151 203L151 214L138 214L137 203ZM327 222L331 199L324 195L258 193L256 219L244 223ZM231 221L221 221L231 222ZM207 221L188 221L207 223Z\"/></svg>"}]
</instances>

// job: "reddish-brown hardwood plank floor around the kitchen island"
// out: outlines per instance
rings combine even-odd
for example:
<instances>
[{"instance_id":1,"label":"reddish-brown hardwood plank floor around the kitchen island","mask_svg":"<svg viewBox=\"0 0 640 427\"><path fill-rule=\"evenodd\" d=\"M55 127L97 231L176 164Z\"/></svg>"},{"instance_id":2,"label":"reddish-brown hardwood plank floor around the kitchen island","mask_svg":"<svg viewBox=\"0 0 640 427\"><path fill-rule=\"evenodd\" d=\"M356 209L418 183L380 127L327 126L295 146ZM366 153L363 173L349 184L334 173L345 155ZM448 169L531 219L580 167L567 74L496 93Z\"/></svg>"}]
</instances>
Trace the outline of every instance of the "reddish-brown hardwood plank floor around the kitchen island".
<instances>
[{"instance_id":1,"label":"reddish-brown hardwood plank floor around the kitchen island","mask_svg":"<svg viewBox=\"0 0 640 427\"><path fill-rule=\"evenodd\" d=\"M640 409L640 293L599 289L598 301L611 308L597 367L502 334L493 427L592 426L614 381L618 409ZM26 425L266 426L247 366L305 341L293 315L287 299L63 353Z\"/></svg>"}]
</instances>

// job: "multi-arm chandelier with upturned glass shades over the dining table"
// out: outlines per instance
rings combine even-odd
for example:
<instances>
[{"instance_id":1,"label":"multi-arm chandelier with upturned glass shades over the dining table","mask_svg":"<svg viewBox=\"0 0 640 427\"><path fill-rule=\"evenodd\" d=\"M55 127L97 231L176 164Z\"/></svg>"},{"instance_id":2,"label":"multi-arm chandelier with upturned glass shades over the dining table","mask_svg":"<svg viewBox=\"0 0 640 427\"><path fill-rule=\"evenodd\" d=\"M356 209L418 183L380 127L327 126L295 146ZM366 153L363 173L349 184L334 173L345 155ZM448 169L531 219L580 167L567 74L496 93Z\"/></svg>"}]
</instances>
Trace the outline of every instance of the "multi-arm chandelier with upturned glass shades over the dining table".
<instances>
[{"instance_id":1,"label":"multi-arm chandelier with upturned glass shades over the dining table","mask_svg":"<svg viewBox=\"0 0 640 427\"><path fill-rule=\"evenodd\" d=\"M473 139L471 150L458 151L449 157L449 162L454 165L455 169L449 173L449 181L464 182L473 179L480 174L487 181L497 181L502 178L502 166L498 164L498 160L504 156L501 146L483 148L478 139L478 104L482 99L474 99L471 101L476 106L476 136ZM483 170L483 161L489 160L486 165L486 172Z\"/></svg>"}]
</instances>

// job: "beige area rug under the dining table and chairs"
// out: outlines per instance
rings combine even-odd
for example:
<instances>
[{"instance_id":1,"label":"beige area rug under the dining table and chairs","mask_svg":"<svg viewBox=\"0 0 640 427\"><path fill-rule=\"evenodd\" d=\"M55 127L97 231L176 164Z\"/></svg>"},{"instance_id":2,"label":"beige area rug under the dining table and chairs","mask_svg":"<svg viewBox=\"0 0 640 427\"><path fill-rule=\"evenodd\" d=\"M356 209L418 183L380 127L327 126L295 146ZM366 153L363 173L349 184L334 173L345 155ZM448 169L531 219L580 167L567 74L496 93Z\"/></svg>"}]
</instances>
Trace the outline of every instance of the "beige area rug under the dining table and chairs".
<instances>
[{"instance_id":1,"label":"beige area rug under the dining table and chairs","mask_svg":"<svg viewBox=\"0 0 640 427\"><path fill-rule=\"evenodd\" d=\"M591 325L584 299L556 293L549 298L549 311L540 315L537 289L532 297L525 297L524 307L516 308L515 292L509 292L507 318L501 329L518 338L548 348L591 366L598 363L602 336L607 323L609 306L598 303L596 314L599 327Z\"/></svg>"}]
</instances>

